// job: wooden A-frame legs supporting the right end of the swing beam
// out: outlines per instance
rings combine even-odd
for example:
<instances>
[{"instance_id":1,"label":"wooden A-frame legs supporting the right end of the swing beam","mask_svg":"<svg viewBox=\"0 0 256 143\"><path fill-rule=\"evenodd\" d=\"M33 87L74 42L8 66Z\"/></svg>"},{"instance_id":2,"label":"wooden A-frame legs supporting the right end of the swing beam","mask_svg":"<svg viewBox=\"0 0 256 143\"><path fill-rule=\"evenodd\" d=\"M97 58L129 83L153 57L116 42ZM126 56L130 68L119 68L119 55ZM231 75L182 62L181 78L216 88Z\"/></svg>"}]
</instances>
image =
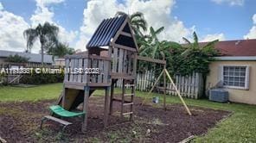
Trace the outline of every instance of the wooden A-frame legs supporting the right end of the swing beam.
<instances>
[{"instance_id":1,"label":"wooden A-frame legs supporting the right end of the swing beam","mask_svg":"<svg viewBox=\"0 0 256 143\"><path fill-rule=\"evenodd\" d=\"M164 74L163 74L163 73L164 73ZM188 106L187 106L187 104L184 102L184 100L183 100L183 98L182 98L182 96L181 96L180 91L177 89L176 84L174 84L174 82L173 82L172 78L170 77L170 74L169 74L169 72L166 70L166 68L164 68L163 71L160 73L159 77L157 78L157 81L156 81L155 84L152 86L152 88L151 88L150 92L148 93L148 95L150 95L150 93L154 90L154 88L156 87L156 85L157 85L157 83L159 82L159 80L160 80L160 78L162 77L162 75L167 75L167 77L168 77L169 80L170 80L170 83L174 86L177 95L179 96L180 100L182 101L182 104L183 104L183 106L185 107L186 111L188 112L189 115L192 115L191 112L190 112L190 110L189 110L189 108L188 108ZM165 83L165 84L166 84L166 83ZM165 85L164 87L166 87L166 85ZM166 89L164 89L164 90L166 90ZM166 98L166 94L165 94L165 92L164 92L164 100L163 100L163 106L164 106L163 108L164 108L164 109L166 109L166 100L165 100L165 98ZM144 101L145 101L145 100L144 100ZM143 102L142 104L144 104L144 102Z\"/></svg>"}]
</instances>

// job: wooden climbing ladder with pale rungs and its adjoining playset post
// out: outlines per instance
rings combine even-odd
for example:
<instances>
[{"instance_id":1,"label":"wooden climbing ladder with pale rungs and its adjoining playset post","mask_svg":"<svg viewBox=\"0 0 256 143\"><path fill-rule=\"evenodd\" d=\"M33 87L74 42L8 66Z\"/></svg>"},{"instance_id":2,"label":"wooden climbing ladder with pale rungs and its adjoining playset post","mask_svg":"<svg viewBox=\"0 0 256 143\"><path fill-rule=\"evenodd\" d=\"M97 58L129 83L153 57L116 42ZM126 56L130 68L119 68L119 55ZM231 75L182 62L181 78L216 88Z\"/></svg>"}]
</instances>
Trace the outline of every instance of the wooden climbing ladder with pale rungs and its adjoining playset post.
<instances>
[{"instance_id":1,"label":"wooden climbing ladder with pale rungs and its adjoining playset post","mask_svg":"<svg viewBox=\"0 0 256 143\"><path fill-rule=\"evenodd\" d=\"M115 82L113 82L113 83L115 83ZM119 102L119 103L121 103L121 112L120 112L121 117L124 119L125 115L130 115L129 121L132 121L133 105L134 105L133 100L134 100L134 96L135 96L135 80L124 78L122 85L123 86L122 86L121 94L113 94L114 88L112 85L110 115L112 115L112 103ZM126 92L126 90L131 90L131 93ZM114 96L121 96L121 99L114 98Z\"/></svg>"}]
</instances>

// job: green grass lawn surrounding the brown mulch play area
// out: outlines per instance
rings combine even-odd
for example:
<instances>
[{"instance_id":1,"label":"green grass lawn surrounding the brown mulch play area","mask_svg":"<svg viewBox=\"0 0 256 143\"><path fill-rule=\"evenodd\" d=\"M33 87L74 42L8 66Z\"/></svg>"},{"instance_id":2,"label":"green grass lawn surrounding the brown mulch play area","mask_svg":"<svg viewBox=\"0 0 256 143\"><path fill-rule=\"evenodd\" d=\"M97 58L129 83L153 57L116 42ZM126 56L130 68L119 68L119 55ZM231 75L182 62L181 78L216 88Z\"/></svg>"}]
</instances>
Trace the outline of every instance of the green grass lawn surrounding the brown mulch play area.
<instances>
[{"instance_id":1,"label":"green grass lawn surrounding the brown mulch play area","mask_svg":"<svg viewBox=\"0 0 256 143\"><path fill-rule=\"evenodd\" d=\"M62 90L62 84L46 84L33 88L0 87L0 102L38 101L57 98ZM103 94L99 90L96 95ZM152 96L163 95L152 94L147 96L146 92L137 92L137 96L151 100ZM241 95L242 96L242 95ZM239 103L213 103L208 100L185 99L191 106L207 107L211 109L223 109L233 111L234 114L210 129L208 134L197 137L195 142L256 142L256 106ZM168 96L167 103L181 103L176 96Z\"/></svg>"}]
</instances>

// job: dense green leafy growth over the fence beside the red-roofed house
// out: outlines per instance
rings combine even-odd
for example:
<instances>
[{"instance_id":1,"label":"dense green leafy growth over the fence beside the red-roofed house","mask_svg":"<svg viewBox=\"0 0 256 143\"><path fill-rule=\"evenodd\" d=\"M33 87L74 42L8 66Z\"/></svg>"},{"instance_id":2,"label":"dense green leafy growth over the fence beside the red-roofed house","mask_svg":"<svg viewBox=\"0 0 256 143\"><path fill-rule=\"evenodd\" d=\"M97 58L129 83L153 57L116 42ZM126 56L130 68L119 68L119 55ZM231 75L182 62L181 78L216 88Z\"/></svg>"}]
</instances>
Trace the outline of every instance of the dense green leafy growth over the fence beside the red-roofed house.
<instances>
[{"instance_id":1,"label":"dense green leafy growth over the fence beside the red-roofed house","mask_svg":"<svg viewBox=\"0 0 256 143\"><path fill-rule=\"evenodd\" d=\"M183 40L185 40L186 45L184 45L182 53L176 56L174 63L176 72L182 75L187 75L191 72L208 73L208 65L214 60L214 56L218 55L214 44L219 40L213 40L200 45L195 32L193 33L193 42L186 38L183 38Z\"/></svg>"}]
</instances>

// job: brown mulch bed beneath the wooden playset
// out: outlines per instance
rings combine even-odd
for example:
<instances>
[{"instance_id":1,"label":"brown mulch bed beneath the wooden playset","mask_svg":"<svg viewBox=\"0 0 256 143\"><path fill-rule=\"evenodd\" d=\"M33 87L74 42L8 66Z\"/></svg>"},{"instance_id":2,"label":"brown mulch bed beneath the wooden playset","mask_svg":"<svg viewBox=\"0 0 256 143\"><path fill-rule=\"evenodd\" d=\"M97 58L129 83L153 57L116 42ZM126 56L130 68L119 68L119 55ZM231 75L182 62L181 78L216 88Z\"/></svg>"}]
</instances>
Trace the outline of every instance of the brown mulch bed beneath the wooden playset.
<instances>
[{"instance_id":1,"label":"brown mulch bed beneath the wooden playset","mask_svg":"<svg viewBox=\"0 0 256 143\"><path fill-rule=\"evenodd\" d=\"M189 107L189 116L180 104L168 105L164 111L159 105L147 104L140 106L140 98L134 105L134 121L122 123L118 111L120 104L114 103L114 114L109 119L110 126L103 128L104 98L92 96L89 100L88 127L82 134L81 118L67 119L74 122L67 127L61 140L61 127L52 121L39 125L43 115L48 115L48 106L53 100L36 103L0 103L0 137L8 142L179 142L190 135L208 132L208 128L230 112L214 109Z\"/></svg>"}]
</instances>

